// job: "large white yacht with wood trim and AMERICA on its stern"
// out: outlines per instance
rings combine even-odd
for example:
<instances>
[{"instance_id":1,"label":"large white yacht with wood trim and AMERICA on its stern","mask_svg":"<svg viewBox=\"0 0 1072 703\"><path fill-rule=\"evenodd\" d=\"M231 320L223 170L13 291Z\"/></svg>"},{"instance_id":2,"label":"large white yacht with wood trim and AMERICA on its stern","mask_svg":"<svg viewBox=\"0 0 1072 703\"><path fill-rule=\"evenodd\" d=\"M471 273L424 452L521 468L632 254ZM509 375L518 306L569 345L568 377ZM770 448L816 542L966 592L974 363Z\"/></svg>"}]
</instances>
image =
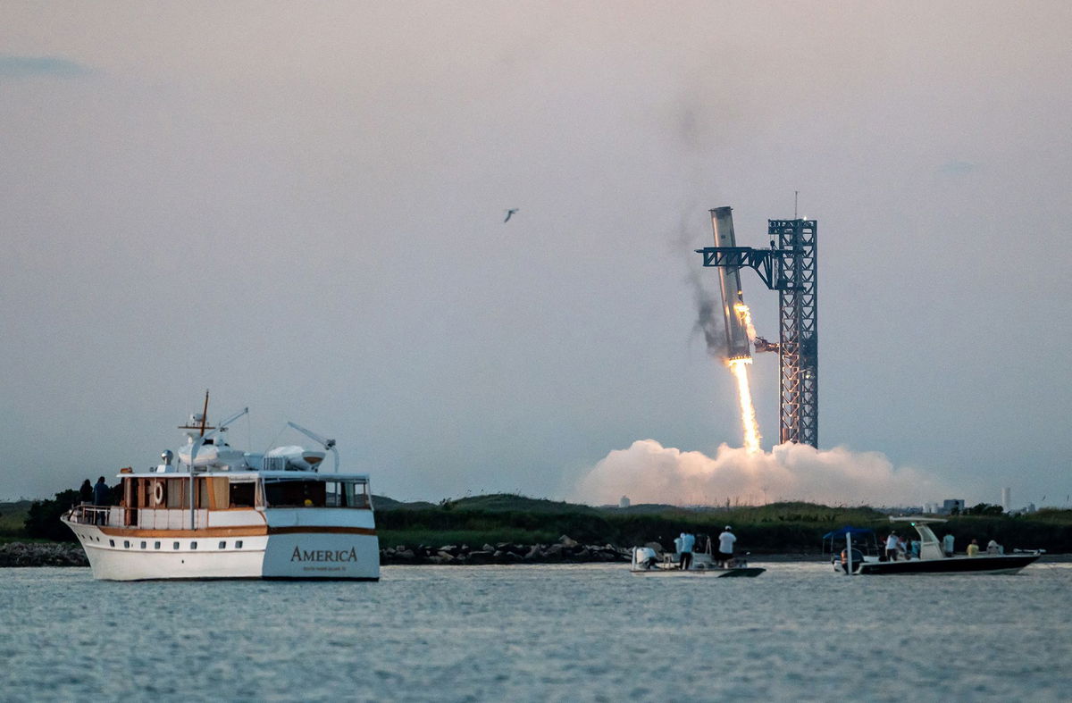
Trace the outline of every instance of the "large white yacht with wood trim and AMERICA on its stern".
<instances>
[{"instance_id":1,"label":"large white yacht with wood trim and AMERICA on its stern","mask_svg":"<svg viewBox=\"0 0 1072 703\"><path fill-rule=\"evenodd\" d=\"M123 468L119 506L75 506L63 518L93 575L150 579L378 581L379 542L369 477L340 474L334 440L296 424L324 449L232 448L205 412L180 429L187 444L146 472ZM330 451L334 472L322 470Z\"/></svg>"}]
</instances>

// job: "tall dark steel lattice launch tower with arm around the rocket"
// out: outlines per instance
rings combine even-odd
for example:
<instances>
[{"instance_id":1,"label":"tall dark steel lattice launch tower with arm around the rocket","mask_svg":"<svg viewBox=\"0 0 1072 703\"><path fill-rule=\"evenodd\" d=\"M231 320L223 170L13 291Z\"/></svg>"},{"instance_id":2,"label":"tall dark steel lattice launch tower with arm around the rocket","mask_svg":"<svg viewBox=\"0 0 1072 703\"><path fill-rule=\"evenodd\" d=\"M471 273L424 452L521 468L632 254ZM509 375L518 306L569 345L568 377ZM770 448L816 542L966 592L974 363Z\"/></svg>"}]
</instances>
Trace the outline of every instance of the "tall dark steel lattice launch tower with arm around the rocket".
<instances>
[{"instance_id":1,"label":"tall dark steel lattice launch tower with arm around the rocket","mask_svg":"<svg viewBox=\"0 0 1072 703\"><path fill-rule=\"evenodd\" d=\"M697 250L704 266L755 269L778 291L778 435L813 447L819 446L816 230L815 220L768 220L770 249Z\"/></svg>"}]
</instances>

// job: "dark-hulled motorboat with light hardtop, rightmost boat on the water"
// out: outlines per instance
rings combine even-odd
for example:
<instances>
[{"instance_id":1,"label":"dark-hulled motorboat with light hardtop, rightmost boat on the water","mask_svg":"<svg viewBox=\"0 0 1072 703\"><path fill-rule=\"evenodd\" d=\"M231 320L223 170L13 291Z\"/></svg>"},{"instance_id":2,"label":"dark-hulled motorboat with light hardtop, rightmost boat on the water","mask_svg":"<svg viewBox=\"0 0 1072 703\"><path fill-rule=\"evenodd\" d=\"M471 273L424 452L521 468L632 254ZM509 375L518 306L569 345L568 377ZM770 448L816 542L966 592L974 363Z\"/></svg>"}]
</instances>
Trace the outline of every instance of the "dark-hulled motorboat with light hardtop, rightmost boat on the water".
<instances>
[{"instance_id":1,"label":"dark-hulled motorboat with light hardtop, rightmost boat on the water","mask_svg":"<svg viewBox=\"0 0 1072 703\"><path fill-rule=\"evenodd\" d=\"M1042 556L1041 550L1015 550L1012 554L978 554L946 556L941 541L929 525L946 522L941 518L890 518L892 523L905 523L920 536L918 557L882 562L863 554L853 543L853 533L845 533L840 553L842 573L887 575L903 573L1016 573ZM835 568L837 568L835 566Z\"/></svg>"}]
</instances>

